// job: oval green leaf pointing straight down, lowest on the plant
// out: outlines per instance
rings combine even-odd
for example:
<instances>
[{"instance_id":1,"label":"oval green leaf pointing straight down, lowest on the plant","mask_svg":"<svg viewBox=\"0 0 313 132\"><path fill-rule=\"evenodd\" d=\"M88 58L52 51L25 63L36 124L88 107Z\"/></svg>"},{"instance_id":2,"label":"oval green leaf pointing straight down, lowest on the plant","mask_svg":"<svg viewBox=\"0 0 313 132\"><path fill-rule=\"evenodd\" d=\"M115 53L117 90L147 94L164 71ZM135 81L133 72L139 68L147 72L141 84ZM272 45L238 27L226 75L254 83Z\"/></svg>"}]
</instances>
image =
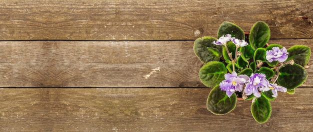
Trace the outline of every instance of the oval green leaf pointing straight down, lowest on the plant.
<instances>
[{"instance_id":1,"label":"oval green leaf pointing straight down, lowest on the plant","mask_svg":"<svg viewBox=\"0 0 313 132\"><path fill-rule=\"evenodd\" d=\"M251 105L251 113L258 123L264 123L270 117L271 106L269 101L261 95L256 98Z\"/></svg>"}]
</instances>

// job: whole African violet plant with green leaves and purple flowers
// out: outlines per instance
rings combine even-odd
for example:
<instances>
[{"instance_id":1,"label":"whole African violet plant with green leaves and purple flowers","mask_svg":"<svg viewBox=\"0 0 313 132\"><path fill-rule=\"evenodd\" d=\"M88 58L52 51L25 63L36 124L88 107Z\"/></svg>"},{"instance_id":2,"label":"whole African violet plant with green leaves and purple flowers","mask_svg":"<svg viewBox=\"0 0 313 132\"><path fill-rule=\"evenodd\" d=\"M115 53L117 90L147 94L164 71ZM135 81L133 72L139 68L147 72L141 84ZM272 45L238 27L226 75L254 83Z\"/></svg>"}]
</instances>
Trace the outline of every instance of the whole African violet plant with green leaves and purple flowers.
<instances>
[{"instance_id":1,"label":"whole African violet plant with green leaves and purple flowers","mask_svg":"<svg viewBox=\"0 0 313 132\"><path fill-rule=\"evenodd\" d=\"M253 24L248 37L234 23L224 21L217 38L203 36L194 41L193 50L204 63L199 78L210 91L206 107L217 115L230 112L237 97L252 100L251 113L259 122L271 114L270 101L277 91L294 93L307 78L303 68L310 57L310 48L268 44L270 30L263 21Z\"/></svg>"}]
</instances>

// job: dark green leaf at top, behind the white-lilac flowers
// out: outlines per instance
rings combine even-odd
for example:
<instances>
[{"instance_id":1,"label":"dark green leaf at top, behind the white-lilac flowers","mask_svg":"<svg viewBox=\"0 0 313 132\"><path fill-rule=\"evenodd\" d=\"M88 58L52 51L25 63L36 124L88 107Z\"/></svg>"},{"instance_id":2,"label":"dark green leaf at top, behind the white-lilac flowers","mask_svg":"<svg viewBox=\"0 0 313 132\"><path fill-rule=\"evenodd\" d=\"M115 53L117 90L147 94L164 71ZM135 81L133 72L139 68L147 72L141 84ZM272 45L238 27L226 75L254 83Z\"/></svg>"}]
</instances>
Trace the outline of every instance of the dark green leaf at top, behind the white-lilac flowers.
<instances>
[{"instance_id":1,"label":"dark green leaf at top, behind the white-lilac flowers","mask_svg":"<svg viewBox=\"0 0 313 132\"><path fill-rule=\"evenodd\" d=\"M228 22L228 21L224 21L220 24L218 31L217 31L217 37L221 37L226 34L231 34L232 37L235 37L238 39L245 38L243 30L236 24Z\"/></svg>"}]
</instances>

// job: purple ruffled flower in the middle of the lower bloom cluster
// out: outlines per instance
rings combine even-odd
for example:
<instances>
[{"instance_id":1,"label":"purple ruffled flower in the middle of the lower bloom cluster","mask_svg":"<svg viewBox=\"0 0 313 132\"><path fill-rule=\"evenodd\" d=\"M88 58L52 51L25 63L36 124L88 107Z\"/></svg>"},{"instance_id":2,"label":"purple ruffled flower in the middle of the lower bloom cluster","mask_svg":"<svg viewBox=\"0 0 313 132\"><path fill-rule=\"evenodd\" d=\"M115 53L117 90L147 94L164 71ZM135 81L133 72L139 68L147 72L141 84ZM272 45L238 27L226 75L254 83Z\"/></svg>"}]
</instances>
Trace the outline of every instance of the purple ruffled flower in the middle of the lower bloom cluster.
<instances>
[{"instance_id":1,"label":"purple ruffled flower in the middle of the lower bloom cluster","mask_svg":"<svg viewBox=\"0 0 313 132\"><path fill-rule=\"evenodd\" d=\"M256 97L260 97L260 90L268 87L268 80L266 79L265 74L263 73L252 73L249 77L248 82L244 87L244 92L246 95L251 95L252 93Z\"/></svg>"}]
</instances>

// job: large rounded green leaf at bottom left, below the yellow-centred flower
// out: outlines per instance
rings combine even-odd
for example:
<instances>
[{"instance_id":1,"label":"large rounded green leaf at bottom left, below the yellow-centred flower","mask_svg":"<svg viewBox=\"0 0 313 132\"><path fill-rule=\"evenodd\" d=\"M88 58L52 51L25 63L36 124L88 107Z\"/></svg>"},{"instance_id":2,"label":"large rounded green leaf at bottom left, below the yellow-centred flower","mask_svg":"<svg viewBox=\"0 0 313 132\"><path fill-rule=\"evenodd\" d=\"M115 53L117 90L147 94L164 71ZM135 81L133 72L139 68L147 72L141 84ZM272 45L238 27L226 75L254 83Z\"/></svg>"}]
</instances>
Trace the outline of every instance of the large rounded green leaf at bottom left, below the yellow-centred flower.
<instances>
[{"instance_id":1,"label":"large rounded green leaf at bottom left, below the yellow-centred flower","mask_svg":"<svg viewBox=\"0 0 313 132\"><path fill-rule=\"evenodd\" d=\"M206 101L206 108L216 115L222 115L230 112L236 106L237 96L232 93L230 97L226 95L226 91L214 86L210 91Z\"/></svg>"}]
</instances>

